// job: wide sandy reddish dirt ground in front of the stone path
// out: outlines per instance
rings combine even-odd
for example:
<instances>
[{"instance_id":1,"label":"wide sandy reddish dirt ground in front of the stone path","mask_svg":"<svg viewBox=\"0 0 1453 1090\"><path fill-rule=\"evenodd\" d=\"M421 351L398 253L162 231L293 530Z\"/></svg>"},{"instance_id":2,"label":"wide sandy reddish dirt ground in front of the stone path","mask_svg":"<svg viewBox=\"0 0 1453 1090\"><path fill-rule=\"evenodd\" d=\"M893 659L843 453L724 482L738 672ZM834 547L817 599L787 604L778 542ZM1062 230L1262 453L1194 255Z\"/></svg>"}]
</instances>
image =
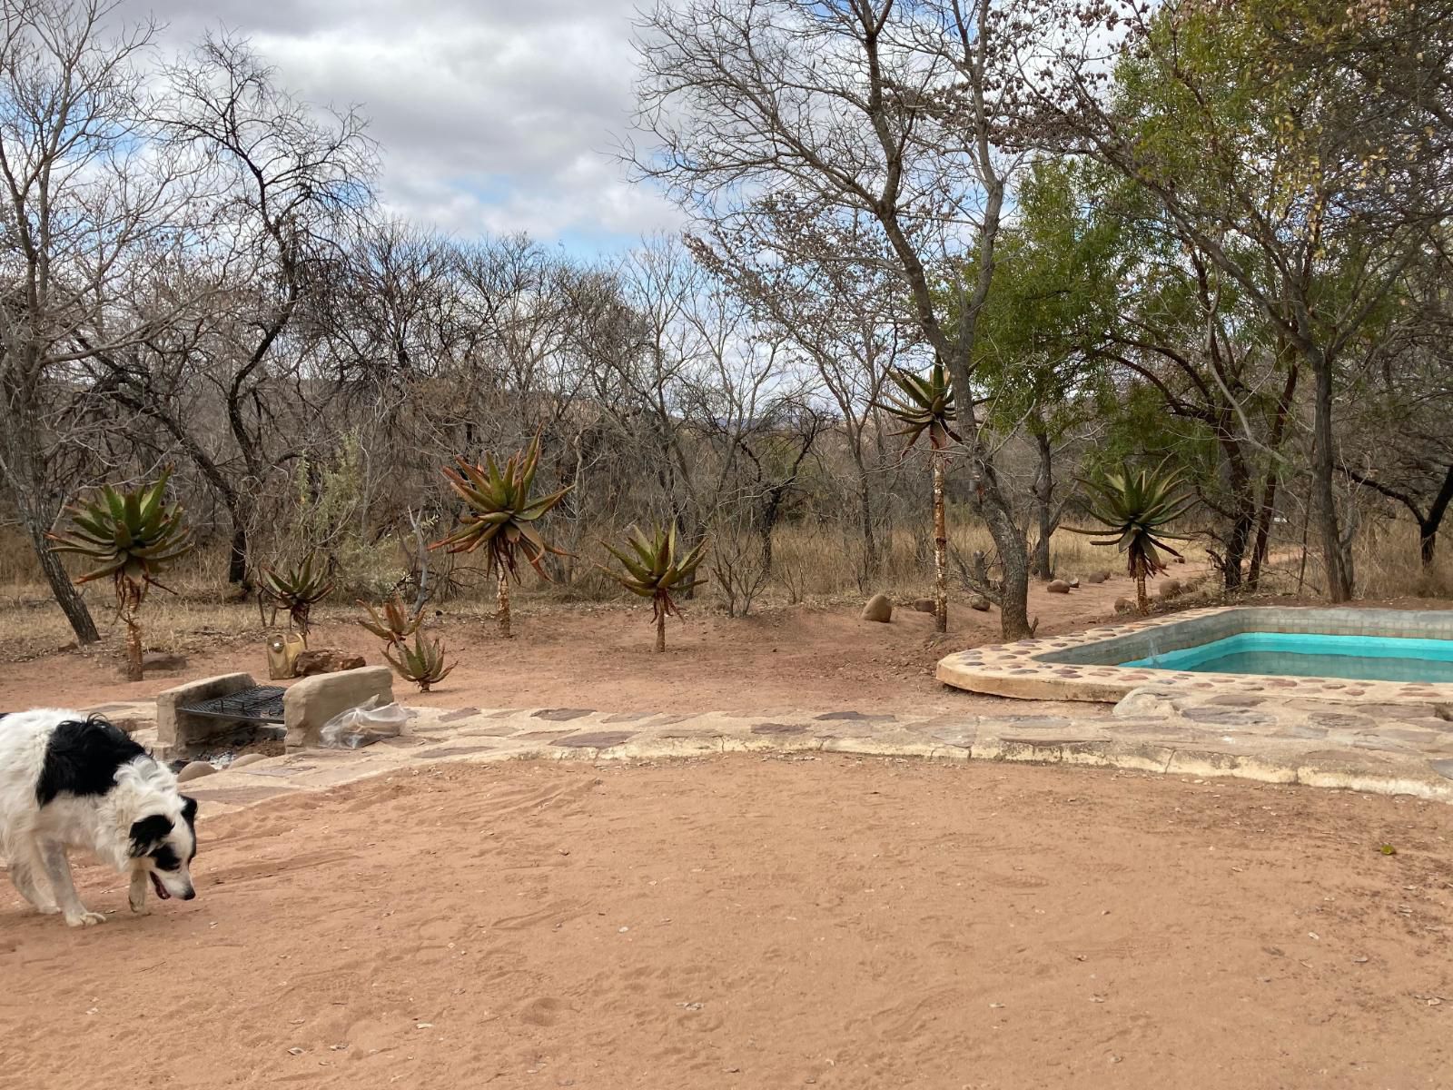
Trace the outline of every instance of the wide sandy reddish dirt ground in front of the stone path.
<instances>
[{"instance_id":1,"label":"wide sandy reddish dirt ground in front of the stone path","mask_svg":"<svg viewBox=\"0 0 1453 1090\"><path fill-rule=\"evenodd\" d=\"M0 1071L116 1087L1447 1087L1449 811L1132 773L443 766L0 894ZM1383 855L1382 844L1395 855Z\"/></svg>"}]
</instances>

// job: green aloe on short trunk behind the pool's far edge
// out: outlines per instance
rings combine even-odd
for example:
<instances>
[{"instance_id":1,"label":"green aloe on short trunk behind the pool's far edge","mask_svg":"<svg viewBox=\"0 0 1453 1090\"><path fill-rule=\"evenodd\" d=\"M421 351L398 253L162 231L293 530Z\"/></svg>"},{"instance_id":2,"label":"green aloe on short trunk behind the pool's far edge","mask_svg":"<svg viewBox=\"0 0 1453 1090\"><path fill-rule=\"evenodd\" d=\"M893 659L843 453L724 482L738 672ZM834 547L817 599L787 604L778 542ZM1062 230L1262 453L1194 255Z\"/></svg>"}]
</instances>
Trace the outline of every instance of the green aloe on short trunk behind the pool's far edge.
<instances>
[{"instance_id":1,"label":"green aloe on short trunk behind the pool's far edge","mask_svg":"<svg viewBox=\"0 0 1453 1090\"><path fill-rule=\"evenodd\" d=\"M1126 571L1135 580L1135 605L1141 613L1149 612L1145 594L1145 580L1165 571L1161 554L1178 557L1167 541L1189 541L1189 535L1165 530L1181 517L1196 501L1189 496L1177 472L1167 472L1167 462L1154 469L1132 469L1129 464L1120 472L1106 474L1097 481L1081 478L1081 484L1094 494L1090 517L1104 525L1104 529L1075 529L1071 533L1106 536L1106 541L1091 545L1114 545L1125 554Z\"/></svg>"}]
</instances>

